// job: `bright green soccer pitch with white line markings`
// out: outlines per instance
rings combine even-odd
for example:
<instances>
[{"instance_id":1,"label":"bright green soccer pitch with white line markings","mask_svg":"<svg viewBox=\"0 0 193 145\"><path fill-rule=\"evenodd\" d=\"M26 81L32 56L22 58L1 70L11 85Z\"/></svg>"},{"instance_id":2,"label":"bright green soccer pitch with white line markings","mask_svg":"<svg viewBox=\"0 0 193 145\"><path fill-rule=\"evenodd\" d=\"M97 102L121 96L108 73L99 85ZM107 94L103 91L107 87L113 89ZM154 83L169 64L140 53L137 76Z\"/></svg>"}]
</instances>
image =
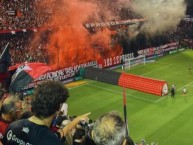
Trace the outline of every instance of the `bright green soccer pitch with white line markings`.
<instances>
[{"instance_id":1,"label":"bright green soccer pitch with white line markings","mask_svg":"<svg viewBox=\"0 0 193 145\"><path fill-rule=\"evenodd\" d=\"M139 65L127 73L166 80L169 88L176 86L175 98L155 96L126 89L127 119L129 134L135 142L142 138L148 144L191 145L193 144L193 50L156 59L153 63ZM116 70L121 71L121 70ZM105 112L117 110L123 116L122 88L92 80L69 88L69 116L91 112L89 118L95 120ZM187 94L182 95L182 89Z\"/></svg>"}]
</instances>

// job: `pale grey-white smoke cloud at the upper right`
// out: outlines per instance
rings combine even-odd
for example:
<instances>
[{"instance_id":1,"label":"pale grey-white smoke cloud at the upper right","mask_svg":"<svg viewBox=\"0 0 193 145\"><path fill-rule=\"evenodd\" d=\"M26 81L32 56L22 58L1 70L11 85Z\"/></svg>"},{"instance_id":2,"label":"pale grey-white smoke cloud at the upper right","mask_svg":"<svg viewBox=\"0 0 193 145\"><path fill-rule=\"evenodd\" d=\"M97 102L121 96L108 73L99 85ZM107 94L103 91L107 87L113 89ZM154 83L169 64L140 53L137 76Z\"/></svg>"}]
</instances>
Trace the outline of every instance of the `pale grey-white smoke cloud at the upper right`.
<instances>
[{"instance_id":1,"label":"pale grey-white smoke cloud at the upper right","mask_svg":"<svg viewBox=\"0 0 193 145\"><path fill-rule=\"evenodd\" d=\"M147 19L143 29L152 34L175 29L186 12L184 0L135 0L132 7Z\"/></svg>"}]
</instances>

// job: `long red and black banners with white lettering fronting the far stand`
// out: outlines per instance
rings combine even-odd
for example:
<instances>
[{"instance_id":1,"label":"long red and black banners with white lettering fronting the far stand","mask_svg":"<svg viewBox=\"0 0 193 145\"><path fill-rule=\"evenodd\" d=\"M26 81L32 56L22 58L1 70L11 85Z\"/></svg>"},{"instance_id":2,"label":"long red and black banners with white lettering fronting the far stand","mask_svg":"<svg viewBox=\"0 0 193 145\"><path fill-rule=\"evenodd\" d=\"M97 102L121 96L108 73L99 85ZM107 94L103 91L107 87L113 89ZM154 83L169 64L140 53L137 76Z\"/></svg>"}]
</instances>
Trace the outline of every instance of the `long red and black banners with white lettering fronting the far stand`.
<instances>
[{"instance_id":1,"label":"long red and black banners with white lettering fronting the far stand","mask_svg":"<svg viewBox=\"0 0 193 145\"><path fill-rule=\"evenodd\" d=\"M175 50L179 47L178 42L174 43L169 43L166 45L162 45L159 47L151 47L143 50L139 50L138 54L139 55L145 55L147 59L154 59L156 57L163 56L164 53L168 53L171 50ZM28 86L25 87L25 89L33 88L37 84L41 83L44 80L57 80L57 81L63 81L63 82L71 82L73 81L73 77L75 77L80 70L80 68L86 68L86 67L97 67L97 68L116 68L115 66L120 65L121 63L124 63L125 60L133 58L133 53L130 54L124 54L120 56L114 56L114 57L109 57L109 58L104 58L104 59L99 59L99 60L94 60L90 61L84 64L77 64L75 66L71 66L68 68L56 70L53 72L48 72L36 80L34 80L33 83L29 84Z\"/></svg>"}]
</instances>

